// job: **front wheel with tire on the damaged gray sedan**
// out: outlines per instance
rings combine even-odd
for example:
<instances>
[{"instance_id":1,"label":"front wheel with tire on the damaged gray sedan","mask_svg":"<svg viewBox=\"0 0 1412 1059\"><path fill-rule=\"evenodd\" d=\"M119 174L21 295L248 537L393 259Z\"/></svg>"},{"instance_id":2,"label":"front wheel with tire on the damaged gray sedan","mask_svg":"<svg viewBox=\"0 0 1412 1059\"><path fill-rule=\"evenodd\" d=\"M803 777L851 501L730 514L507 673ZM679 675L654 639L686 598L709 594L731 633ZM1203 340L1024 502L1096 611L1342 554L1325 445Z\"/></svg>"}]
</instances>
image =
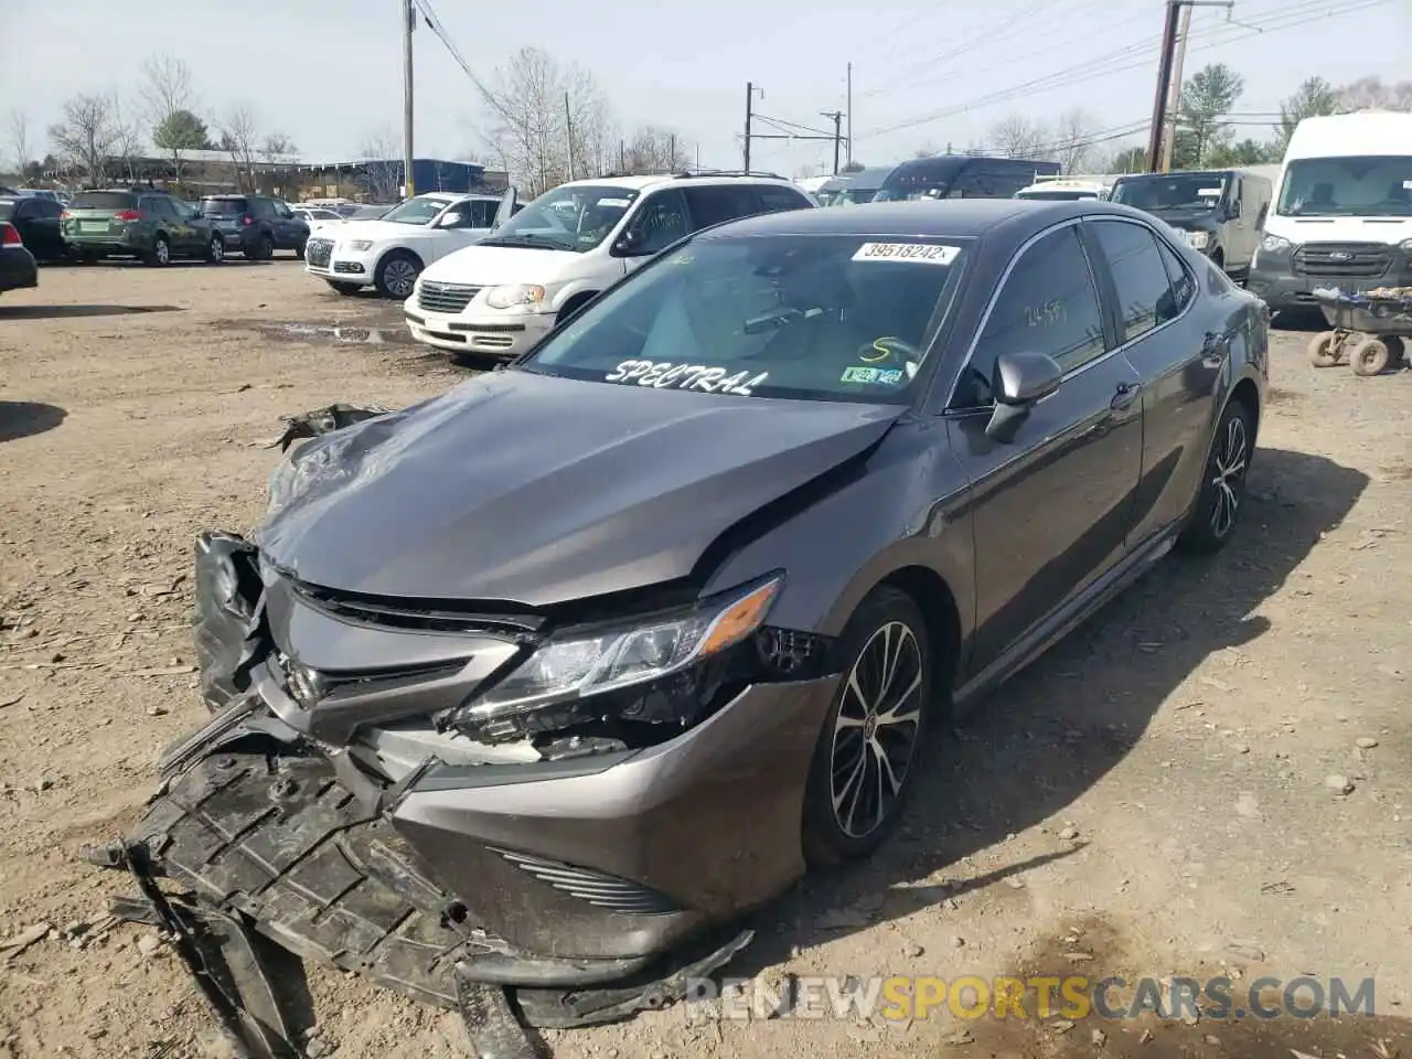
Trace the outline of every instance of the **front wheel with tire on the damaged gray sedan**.
<instances>
[{"instance_id":1,"label":"front wheel with tire on the damaged gray sedan","mask_svg":"<svg viewBox=\"0 0 1412 1059\"><path fill-rule=\"evenodd\" d=\"M891 586L858 604L847 659L805 786L802 842L815 866L866 857L907 805L932 696L932 645L912 597Z\"/></svg>"}]
</instances>

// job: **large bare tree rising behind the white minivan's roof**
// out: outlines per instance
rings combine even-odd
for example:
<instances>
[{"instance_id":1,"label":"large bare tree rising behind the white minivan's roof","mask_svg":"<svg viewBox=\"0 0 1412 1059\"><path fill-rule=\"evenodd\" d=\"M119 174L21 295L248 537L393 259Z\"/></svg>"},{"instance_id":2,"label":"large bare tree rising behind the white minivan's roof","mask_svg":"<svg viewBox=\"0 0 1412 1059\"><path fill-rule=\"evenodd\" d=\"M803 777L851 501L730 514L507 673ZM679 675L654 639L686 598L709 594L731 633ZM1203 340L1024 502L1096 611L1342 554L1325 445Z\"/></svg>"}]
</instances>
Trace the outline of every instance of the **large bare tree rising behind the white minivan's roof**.
<instances>
[{"instance_id":1,"label":"large bare tree rising behind the white minivan's roof","mask_svg":"<svg viewBox=\"0 0 1412 1059\"><path fill-rule=\"evenodd\" d=\"M486 147L527 195L604 167L613 121L587 71L521 48L480 95L490 119Z\"/></svg>"}]
</instances>

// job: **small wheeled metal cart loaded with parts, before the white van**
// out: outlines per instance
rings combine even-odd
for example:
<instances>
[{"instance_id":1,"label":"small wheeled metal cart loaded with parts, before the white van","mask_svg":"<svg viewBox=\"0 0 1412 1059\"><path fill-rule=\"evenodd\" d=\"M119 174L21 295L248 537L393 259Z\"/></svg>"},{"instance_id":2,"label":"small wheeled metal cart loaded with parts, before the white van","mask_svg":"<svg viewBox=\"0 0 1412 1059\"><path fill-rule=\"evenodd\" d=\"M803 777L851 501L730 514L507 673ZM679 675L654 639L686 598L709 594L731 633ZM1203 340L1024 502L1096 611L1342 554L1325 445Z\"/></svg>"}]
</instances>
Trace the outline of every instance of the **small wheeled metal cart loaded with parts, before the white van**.
<instances>
[{"instance_id":1,"label":"small wheeled metal cart loaded with parts, before the white van","mask_svg":"<svg viewBox=\"0 0 1412 1059\"><path fill-rule=\"evenodd\" d=\"M1380 376L1406 363L1412 287L1357 292L1320 287L1313 295L1333 328L1309 340L1309 361L1315 367L1347 363L1356 376Z\"/></svg>"}]
</instances>

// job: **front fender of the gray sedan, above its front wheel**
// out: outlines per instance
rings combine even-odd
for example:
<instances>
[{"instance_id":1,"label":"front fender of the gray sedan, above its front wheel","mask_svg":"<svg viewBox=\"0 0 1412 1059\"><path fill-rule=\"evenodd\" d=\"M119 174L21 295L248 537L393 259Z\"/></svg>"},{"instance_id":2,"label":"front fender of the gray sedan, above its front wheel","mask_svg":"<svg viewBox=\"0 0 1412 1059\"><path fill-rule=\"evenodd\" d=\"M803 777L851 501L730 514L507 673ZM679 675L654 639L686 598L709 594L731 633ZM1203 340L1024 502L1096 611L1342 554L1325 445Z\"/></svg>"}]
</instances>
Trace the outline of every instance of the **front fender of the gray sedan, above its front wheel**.
<instances>
[{"instance_id":1,"label":"front fender of the gray sedan, above its front wheel","mask_svg":"<svg viewBox=\"0 0 1412 1059\"><path fill-rule=\"evenodd\" d=\"M861 476L729 555L707 592L782 568L785 587L770 623L837 635L880 582L921 566L950 589L964 641L974 627L974 539L964 496L966 476L945 424L904 419Z\"/></svg>"}]
</instances>

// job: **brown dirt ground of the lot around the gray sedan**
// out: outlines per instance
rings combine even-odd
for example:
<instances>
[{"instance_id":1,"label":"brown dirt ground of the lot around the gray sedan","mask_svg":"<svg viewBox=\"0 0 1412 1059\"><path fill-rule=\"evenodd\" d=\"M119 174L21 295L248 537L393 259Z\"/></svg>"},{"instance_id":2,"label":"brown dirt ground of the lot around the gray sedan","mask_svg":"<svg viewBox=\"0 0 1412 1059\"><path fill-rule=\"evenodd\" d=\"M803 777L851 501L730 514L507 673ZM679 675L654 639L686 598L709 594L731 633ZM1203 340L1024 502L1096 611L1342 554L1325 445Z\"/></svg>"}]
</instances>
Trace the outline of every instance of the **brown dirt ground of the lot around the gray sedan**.
<instances>
[{"instance_id":1,"label":"brown dirt ground of the lot around the gray sedan","mask_svg":"<svg viewBox=\"0 0 1412 1059\"><path fill-rule=\"evenodd\" d=\"M1412 1059L1412 373L1316 371L1306 339L1274 337L1234 545L1168 561L949 733L904 833L757 916L727 973L1374 977L1375 1019L679 1007L546 1049ZM395 306L294 261L58 267L0 298L0 1058L219 1051L152 931L104 926L126 880L76 854L133 820L158 751L205 717L192 542L258 518L278 417L407 404L463 374L407 345ZM469 1053L453 1014L311 980L313 1052Z\"/></svg>"}]
</instances>

